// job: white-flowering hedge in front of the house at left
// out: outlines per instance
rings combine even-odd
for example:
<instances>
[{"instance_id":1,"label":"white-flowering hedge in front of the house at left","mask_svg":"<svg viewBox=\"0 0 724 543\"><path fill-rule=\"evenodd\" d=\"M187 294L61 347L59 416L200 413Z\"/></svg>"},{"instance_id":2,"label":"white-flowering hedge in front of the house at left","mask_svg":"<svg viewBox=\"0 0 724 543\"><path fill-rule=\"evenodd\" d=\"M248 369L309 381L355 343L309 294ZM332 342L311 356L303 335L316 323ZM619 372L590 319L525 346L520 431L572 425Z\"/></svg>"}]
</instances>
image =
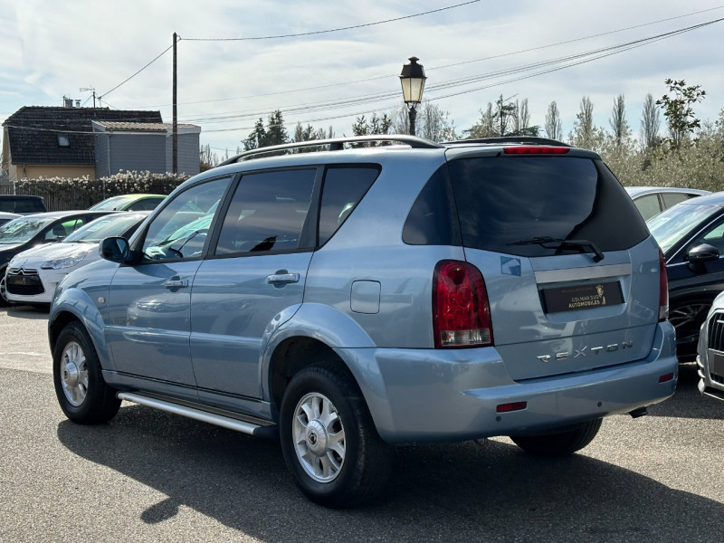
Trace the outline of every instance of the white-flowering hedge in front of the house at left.
<instances>
[{"instance_id":1,"label":"white-flowering hedge in front of the house at left","mask_svg":"<svg viewBox=\"0 0 724 543\"><path fill-rule=\"evenodd\" d=\"M168 195L188 176L126 171L109 177L39 177L15 183L19 195L43 196L49 211L87 209L105 198L136 193Z\"/></svg>"}]
</instances>

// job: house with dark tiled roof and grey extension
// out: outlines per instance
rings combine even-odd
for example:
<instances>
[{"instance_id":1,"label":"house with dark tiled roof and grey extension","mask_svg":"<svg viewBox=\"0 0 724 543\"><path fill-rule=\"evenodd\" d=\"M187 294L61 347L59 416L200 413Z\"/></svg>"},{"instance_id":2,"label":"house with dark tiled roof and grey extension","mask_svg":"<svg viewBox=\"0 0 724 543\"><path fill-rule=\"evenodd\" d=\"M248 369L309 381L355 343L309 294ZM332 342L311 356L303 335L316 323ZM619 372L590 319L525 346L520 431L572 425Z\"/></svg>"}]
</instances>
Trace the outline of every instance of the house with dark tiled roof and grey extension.
<instances>
[{"instance_id":1,"label":"house with dark tiled roof and grey extension","mask_svg":"<svg viewBox=\"0 0 724 543\"><path fill-rule=\"evenodd\" d=\"M41 176L94 179L126 170L165 173L173 170L169 126L160 111L26 106L3 123L2 170L10 181ZM178 172L194 175L201 129L186 130L181 143L179 129ZM156 136L152 143L151 134ZM133 145L129 138L135 138ZM187 169L182 169L186 162Z\"/></svg>"}]
</instances>

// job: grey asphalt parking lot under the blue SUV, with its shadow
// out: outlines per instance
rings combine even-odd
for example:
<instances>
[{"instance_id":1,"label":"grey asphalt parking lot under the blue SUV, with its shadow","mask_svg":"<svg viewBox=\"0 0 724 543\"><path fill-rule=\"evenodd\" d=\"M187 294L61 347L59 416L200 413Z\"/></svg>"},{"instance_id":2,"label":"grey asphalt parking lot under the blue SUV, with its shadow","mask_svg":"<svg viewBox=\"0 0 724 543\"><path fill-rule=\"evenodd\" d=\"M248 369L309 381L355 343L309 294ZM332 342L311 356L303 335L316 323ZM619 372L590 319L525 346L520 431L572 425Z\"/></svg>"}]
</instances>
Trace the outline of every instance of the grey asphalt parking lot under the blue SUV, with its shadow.
<instances>
[{"instance_id":1,"label":"grey asphalt parking lot under the blue SUV, with its shadow","mask_svg":"<svg viewBox=\"0 0 724 543\"><path fill-rule=\"evenodd\" d=\"M305 500L278 443L124 403L67 421L47 314L0 309L0 541L721 541L724 403L682 365L672 399L616 415L582 452L541 460L505 437L402 447L359 510Z\"/></svg>"}]
</instances>

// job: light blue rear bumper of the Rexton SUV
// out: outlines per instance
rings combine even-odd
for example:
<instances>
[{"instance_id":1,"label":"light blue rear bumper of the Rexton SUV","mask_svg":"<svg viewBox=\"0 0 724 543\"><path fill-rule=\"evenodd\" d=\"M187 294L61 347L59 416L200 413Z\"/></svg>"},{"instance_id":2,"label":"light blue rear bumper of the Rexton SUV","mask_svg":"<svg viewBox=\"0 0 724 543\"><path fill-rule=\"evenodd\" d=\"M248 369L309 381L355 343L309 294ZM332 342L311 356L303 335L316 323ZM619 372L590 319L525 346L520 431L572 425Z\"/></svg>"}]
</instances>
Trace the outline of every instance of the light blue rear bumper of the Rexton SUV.
<instances>
[{"instance_id":1,"label":"light blue rear bumper of the Rexton SUV","mask_svg":"<svg viewBox=\"0 0 724 543\"><path fill-rule=\"evenodd\" d=\"M510 378L495 348L342 349L340 355L351 362L388 443L545 431L627 413L670 397L679 368L669 322L657 326L642 360L525 381ZM497 410L523 402L518 411Z\"/></svg>"}]
</instances>

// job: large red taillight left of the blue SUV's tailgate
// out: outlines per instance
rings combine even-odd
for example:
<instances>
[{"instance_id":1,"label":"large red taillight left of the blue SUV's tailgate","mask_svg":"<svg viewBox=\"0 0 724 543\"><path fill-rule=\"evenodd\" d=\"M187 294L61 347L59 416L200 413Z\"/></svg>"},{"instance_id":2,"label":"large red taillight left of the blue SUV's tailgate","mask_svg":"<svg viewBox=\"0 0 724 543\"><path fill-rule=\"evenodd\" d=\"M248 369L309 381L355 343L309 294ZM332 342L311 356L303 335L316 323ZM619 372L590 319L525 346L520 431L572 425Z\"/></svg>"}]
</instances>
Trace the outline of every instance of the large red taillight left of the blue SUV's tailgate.
<instances>
[{"instance_id":1,"label":"large red taillight left of the blue SUV's tailgate","mask_svg":"<svg viewBox=\"0 0 724 543\"><path fill-rule=\"evenodd\" d=\"M441 261L435 266L433 331L436 348L492 345L488 292L472 264Z\"/></svg>"}]
</instances>

